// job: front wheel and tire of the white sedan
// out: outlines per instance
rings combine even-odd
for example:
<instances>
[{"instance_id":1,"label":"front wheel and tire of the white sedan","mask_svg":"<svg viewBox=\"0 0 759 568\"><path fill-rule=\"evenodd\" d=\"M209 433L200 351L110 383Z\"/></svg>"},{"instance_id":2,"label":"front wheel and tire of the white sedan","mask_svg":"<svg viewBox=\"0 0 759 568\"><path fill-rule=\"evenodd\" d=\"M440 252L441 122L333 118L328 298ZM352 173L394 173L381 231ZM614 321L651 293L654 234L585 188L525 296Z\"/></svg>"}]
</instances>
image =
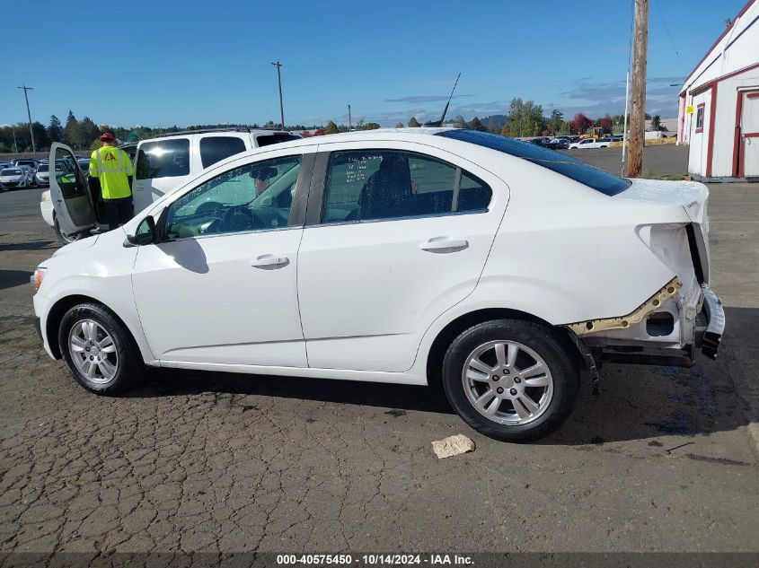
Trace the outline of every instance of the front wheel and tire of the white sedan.
<instances>
[{"instance_id":1,"label":"front wheel and tire of the white sedan","mask_svg":"<svg viewBox=\"0 0 759 568\"><path fill-rule=\"evenodd\" d=\"M58 328L58 345L74 379L99 395L126 392L145 376L135 340L101 304L83 303L66 311Z\"/></svg>"}]
</instances>

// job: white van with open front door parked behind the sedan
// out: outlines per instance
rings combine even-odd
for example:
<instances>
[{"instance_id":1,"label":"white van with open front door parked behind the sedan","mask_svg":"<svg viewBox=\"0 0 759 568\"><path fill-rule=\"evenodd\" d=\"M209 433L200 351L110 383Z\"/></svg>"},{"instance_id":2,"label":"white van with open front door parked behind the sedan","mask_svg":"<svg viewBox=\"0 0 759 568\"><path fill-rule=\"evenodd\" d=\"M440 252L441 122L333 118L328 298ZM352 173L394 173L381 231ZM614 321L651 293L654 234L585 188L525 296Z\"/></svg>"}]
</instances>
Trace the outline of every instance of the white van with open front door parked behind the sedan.
<instances>
[{"instance_id":1,"label":"white van with open front door parked behind the sedan","mask_svg":"<svg viewBox=\"0 0 759 568\"><path fill-rule=\"evenodd\" d=\"M211 164L252 148L297 140L300 137L284 130L213 128L187 130L140 140L137 147L124 148L135 166L132 182L135 214L158 197L181 188ZM93 195L96 192L89 188L86 172L78 166L74 170L74 151L65 144L53 144L50 148L50 162L70 164L70 175L81 179L82 186L76 195L61 196L58 184L50 179L50 190L40 197L42 217L57 232L58 238L72 242L86 236L93 229L106 230L102 203L97 195ZM77 187L78 185L80 184ZM68 211L63 206L64 200L69 205ZM73 204L75 201L81 201L81 204ZM70 211L74 211L74 214L70 214Z\"/></svg>"}]
</instances>

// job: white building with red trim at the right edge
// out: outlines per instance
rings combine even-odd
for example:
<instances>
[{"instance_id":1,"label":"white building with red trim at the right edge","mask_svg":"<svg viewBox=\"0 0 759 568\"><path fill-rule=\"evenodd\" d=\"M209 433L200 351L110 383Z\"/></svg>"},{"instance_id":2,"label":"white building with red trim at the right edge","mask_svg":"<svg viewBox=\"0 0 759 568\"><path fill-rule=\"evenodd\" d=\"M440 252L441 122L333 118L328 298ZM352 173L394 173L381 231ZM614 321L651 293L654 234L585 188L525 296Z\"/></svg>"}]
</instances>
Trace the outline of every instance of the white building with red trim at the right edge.
<instances>
[{"instance_id":1,"label":"white building with red trim at the right edge","mask_svg":"<svg viewBox=\"0 0 759 568\"><path fill-rule=\"evenodd\" d=\"M695 179L759 179L759 0L748 0L685 80L677 144Z\"/></svg>"}]
</instances>

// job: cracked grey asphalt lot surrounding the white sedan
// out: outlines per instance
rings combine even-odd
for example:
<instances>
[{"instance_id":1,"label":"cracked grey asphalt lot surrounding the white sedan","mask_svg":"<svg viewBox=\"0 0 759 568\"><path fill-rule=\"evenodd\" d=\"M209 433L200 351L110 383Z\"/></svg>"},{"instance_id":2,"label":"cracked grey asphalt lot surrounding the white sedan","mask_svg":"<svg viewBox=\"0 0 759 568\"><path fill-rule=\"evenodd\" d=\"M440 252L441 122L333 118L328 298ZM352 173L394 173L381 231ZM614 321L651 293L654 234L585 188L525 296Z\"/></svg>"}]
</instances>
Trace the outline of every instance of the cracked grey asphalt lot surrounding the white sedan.
<instances>
[{"instance_id":1,"label":"cracked grey asphalt lot surrounding the white sedan","mask_svg":"<svg viewBox=\"0 0 759 568\"><path fill-rule=\"evenodd\" d=\"M57 247L40 190L0 194L0 552L759 551L759 185L711 189L719 360L606 365L533 445L426 388L155 371L88 394L32 327L29 275ZM454 433L476 451L437 460Z\"/></svg>"}]
</instances>

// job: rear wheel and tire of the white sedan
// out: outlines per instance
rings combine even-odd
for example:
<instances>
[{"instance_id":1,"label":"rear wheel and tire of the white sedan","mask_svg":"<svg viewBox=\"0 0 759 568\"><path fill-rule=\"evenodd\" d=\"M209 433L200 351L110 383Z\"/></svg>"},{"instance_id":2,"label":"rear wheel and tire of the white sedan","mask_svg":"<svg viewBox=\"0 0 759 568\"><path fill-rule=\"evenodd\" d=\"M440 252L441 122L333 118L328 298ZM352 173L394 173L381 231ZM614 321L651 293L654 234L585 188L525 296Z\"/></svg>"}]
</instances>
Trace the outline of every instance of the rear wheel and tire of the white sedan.
<instances>
[{"instance_id":1,"label":"rear wheel and tire of the white sedan","mask_svg":"<svg viewBox=\"0 0 759 568\"><path fill-rule=\"evenodd\" d=\"M443 388L458 415L479 433L534 441L569 418L579 370L551 328L495 319L454 339L443 359Z\"/></svg>"}]
</instances>

